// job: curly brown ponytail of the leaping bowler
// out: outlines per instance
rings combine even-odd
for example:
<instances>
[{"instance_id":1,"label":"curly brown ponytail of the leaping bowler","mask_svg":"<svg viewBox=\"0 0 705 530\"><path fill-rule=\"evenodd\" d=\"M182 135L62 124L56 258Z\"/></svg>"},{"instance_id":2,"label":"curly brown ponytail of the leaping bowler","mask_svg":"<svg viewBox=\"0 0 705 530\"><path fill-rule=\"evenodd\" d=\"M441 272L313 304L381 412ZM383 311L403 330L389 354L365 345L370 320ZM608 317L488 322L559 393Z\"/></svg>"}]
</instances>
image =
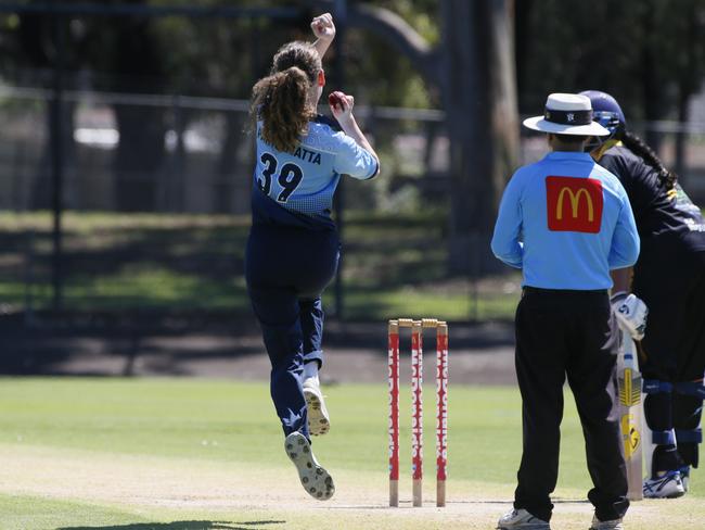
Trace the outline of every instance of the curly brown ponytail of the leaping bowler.
<instances>
[{"instance_id":1,"label":"curly brown ponytail of the leaping bowler","mask_svg":"<svg viewBox=\"0 0 705 530\"><path fill-rule=\"evenodd\" d=\"M293 151L316 110L308 102L311 84L300 68L292 66L259 79L252 91L251 116L261 119L261 137L274 149Z\"/></svg>"}]
</instances>

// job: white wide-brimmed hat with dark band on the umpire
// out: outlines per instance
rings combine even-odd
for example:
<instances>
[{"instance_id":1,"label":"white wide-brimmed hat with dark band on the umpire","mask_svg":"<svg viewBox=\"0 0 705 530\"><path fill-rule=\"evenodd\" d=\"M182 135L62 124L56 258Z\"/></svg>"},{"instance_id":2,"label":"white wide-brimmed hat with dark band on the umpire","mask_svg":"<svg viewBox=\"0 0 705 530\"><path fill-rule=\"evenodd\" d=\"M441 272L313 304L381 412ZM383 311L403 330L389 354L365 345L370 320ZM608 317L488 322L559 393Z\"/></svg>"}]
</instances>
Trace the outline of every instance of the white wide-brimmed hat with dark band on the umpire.
<instances>
[{"instance_id":1,"label":"white wide-brimmed hat with dark band on the umpire","mask_svg":"<svg viewBox=\"0 0 705 530\"><path fill-rule=\"evenodd\" d=\"M578 93L549 94L543 115L527 117L524 127L556 135L610 135L606 128L592 121L590 98Z\"/></svg>"}]
</instances>

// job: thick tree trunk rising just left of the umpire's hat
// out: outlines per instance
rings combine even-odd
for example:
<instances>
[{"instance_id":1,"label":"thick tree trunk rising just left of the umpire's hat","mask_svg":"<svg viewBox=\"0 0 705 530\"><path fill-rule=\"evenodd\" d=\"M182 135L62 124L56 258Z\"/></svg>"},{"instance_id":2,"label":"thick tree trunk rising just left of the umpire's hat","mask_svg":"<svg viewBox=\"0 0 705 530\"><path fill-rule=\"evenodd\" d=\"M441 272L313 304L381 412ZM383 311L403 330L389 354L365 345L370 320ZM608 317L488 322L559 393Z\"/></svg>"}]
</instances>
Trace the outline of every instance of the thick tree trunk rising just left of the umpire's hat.
<instances>
[{"instance_id":1,"label":"thick tree trunk rising just left of the umpire's hat","mask_svg":"<svg viewBox=\"0 0 705 530\"><path fill-rule=\"evenodd\" d=\"M453 274L493 268L489 238L518 135L512 22L508 0L444 2L441 93L452 175Z\"/></svg>"}]
</instances>

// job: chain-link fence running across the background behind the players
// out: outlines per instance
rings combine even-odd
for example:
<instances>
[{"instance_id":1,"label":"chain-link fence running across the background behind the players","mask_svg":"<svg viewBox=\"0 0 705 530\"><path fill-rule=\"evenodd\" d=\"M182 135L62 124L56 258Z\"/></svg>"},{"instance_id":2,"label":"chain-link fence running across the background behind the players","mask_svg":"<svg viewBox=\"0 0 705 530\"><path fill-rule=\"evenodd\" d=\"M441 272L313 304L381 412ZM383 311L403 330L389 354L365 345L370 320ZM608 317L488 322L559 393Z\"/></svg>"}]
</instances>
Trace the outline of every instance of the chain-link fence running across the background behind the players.
<instances>
[{"instance_id":1,"label":"chain-link fence running across the background behind the players","mask_svg":"<svg viewBox=\"0 0 705 530\"><path fill-rule=\"evenodd\" d=\"M53 98L44 89L0 88L2 311L28 318L52 307L74 315L248 313L247 102L65 91L56 256ZM357 114L384 175L343 185L345 257L329 307L346 319L511 318L515 272L480 276L473 260L464 274L448 272L452 179L444 114L364 106ZM680 166L687 190L705 203L705 127L637 126L645 129L659 132L665 161ZM544 152L543 138L523 136L522 162ZM474 254L487 253L490 230L477 229Z\"/></svg>"}]
</instances>

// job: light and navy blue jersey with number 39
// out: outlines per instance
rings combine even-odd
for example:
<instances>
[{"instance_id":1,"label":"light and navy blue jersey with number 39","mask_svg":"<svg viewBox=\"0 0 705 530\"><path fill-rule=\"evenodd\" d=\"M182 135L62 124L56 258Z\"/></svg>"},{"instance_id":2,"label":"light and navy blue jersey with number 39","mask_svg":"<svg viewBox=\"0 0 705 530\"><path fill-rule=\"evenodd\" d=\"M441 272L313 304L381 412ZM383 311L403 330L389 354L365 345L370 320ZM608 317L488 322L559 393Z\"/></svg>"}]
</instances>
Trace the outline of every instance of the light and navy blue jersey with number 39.
<instances>
[{"instance_id":1,"label":"light and navy blue jersey with number 39","mask_svg":"<svg viewBox=\"0 0 705 530\"><path fill-rule=\"evenodd\" d=\"M322 116L308 124L308 135L292 152L279 151L265 142L261 126L259 122L253 224L334 228L331 210L341 175L357 179L374 177L374 156Z\"/></svg>"}]
</instances>

